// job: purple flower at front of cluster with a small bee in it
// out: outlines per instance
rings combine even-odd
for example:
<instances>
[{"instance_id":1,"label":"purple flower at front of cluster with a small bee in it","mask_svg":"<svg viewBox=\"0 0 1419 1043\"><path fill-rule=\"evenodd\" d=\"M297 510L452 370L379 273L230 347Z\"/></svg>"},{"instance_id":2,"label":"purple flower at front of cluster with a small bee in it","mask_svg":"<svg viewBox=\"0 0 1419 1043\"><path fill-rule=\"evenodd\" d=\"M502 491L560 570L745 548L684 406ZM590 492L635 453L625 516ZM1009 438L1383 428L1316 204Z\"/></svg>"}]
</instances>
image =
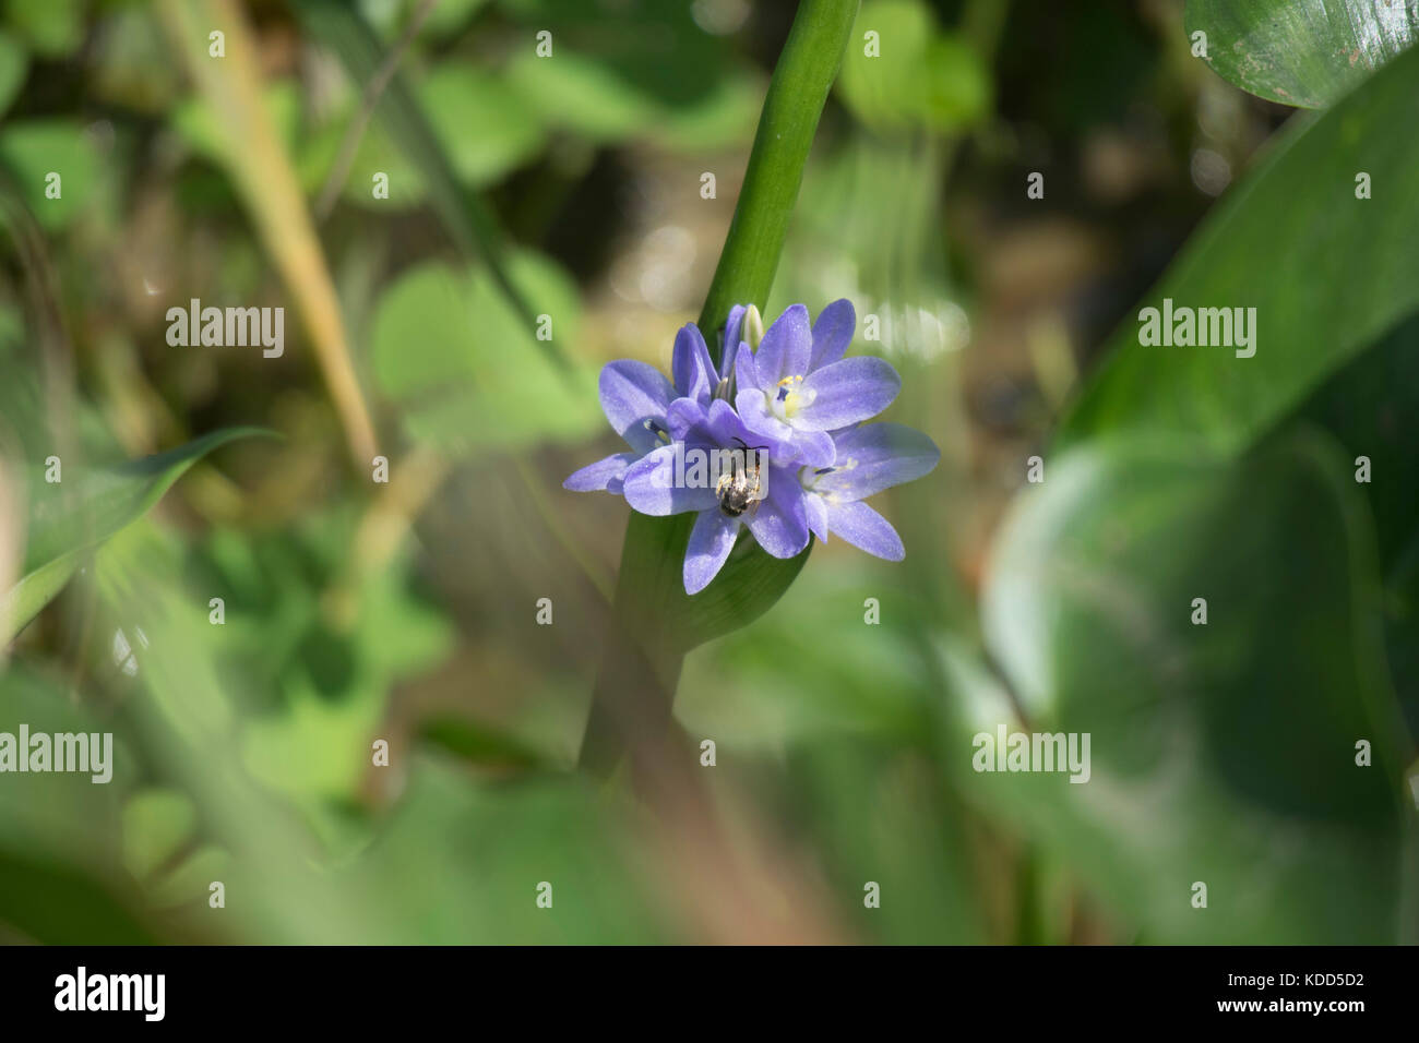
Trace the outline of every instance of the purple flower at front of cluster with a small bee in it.
<instances>
[{"instance_id":1,"label":"purple flower at front of cluster with a small bee in it","mask_svg":"<svg viewBox=\"0 0 1419 1043\"><path fill-rule=\"evenodd\" d=\"M775 558L792 558L807 546L803 487L793 467L775 463L782 446L759 438L722 399L712 400L708 409L692 399L680 399L670 407L670 424L675 443L631 464L623 492L626 502L641 514L698 514L685 551L685 593L700 593L718 575L741 525L748 525L759 546ZM714 482L690 485L677 474L690 451L758 448L768 454L768 463L759 468L765 495L738 515L725 512Z\"/></svg>"}]
</instances>

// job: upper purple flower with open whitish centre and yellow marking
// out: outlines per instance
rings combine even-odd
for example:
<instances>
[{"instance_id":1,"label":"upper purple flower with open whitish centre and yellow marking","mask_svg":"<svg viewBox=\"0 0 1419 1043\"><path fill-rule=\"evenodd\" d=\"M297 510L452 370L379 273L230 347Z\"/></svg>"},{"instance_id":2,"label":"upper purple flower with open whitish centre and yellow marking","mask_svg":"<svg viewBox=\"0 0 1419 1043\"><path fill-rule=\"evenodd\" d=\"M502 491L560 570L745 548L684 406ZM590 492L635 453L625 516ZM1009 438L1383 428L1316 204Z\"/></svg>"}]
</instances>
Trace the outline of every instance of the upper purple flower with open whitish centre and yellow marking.
<instances>
[{"instance_id":1,"label":"upper purple flower with open whitish centre and yellow marking","mask_svg":"<svg viewBox=\"0 0 1419 1043\"><path fill-rule=\"evenodd\" d=\"M806 464L832 465L829 431L877 416L901 390L901 377L883 359L843 358L856 326L846 299L827 305L812 331L807 308L795 304L756 352L736 352L735 407L749 430L792 446Z\"/></svg>"}]
</instances>

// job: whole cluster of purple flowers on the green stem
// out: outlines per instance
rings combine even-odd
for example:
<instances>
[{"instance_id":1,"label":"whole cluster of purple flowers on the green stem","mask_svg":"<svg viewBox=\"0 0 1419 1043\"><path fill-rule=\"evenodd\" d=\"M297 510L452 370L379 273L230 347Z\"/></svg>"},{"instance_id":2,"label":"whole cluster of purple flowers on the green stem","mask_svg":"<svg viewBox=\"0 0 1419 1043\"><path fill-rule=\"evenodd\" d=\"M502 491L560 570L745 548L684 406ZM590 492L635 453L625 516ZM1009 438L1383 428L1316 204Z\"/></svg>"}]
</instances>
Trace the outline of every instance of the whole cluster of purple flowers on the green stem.
<instances>
[{"instance_id":1,"label":"whole cluster of purple flowers on the green stem","mask_svg":"<svg viewBox=\"0 0 1419 1043\"><path fill-rule=\"evenodd\" d=\"M856 329L849 301L827 305L812 329L807 308L796 304L759 343L739 339L756 328L758 308L736 305L717 368L704 335L685 325L675 336L673 382L643 362L607 363L602 409L631 450L565 482L624 495L646 515L694 512L684 559L688 595L719 573L741 526L775 558L800 553L810 532L823 542L836 532L871 555L901 561L895 529L861 501L920 478L939 458L931 438L908 427L863 426L897 397L901 377L883 359L843 358ZM685 453L717 450L738 454L735 467L751 470L748 480L762 490L748 509L731 498L738 474L685 481ZM741 460L745 450L762 450L766 461Z\"/></svg>"}]
</instances>

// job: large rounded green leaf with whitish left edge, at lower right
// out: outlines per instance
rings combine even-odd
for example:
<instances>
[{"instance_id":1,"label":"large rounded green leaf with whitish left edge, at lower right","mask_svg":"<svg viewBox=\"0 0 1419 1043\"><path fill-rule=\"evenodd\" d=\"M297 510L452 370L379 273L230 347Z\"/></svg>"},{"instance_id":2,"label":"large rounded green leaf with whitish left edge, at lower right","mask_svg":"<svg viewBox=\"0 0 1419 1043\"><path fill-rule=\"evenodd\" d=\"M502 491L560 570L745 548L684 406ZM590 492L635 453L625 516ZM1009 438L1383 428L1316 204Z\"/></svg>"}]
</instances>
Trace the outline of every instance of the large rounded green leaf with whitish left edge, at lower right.
<instances>
[{"instance_id":1,"label":"large rounded green leaf with whitish left edge, at lower right","mask_svg":"<svg viewBox=\"0 0 1419 1043\"><path fill-rule=\"evenodd\" d=\"M1398 941L1402 727L1374 536L1334 444L1227 463L1100 441L1050 467L1006 519L982 619L1027 731L1088 734L1090 779L973 771L975 734L1020 727L958 661L958 786L1141 941Z\"/></svg>"}]
</instances>

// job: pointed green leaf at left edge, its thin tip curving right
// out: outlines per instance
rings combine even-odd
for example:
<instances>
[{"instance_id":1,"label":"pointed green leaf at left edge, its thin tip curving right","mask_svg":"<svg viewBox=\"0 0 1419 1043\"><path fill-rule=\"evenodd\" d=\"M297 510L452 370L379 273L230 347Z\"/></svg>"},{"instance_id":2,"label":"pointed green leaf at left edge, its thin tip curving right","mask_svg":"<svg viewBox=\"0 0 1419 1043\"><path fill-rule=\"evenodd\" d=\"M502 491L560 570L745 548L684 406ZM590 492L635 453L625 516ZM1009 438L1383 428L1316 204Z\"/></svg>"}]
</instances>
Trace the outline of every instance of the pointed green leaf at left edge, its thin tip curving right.
<instances>
[{"instance_id":1,"label":"pointed green leaf at left edge, its thin tip curving right","mask_svg":"<svg viewBox=\"0 0 1419 1043\"><path fill-rule=\"evenodd\" d=\"M116 467L79 470L70 464L53 484L38 468L30 482L23 575L0 599L0 644L9 644L50 603L87 551L146 514L183 471L219 446L261 433L230 427Z\"/></svg>"}]
</instances>

